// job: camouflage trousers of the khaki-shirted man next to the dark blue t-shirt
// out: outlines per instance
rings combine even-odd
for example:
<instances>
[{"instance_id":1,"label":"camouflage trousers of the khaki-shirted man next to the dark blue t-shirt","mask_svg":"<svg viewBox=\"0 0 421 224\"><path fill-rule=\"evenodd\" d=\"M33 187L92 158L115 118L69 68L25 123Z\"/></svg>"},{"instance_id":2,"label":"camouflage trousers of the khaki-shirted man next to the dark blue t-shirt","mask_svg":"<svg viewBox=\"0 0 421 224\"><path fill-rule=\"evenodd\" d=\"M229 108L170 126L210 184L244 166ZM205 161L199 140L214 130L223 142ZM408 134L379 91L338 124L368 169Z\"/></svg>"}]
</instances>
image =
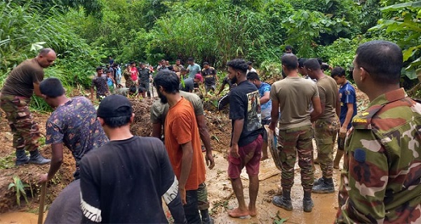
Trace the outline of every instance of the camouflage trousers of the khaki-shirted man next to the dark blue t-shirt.
<instances>
[{"instance_id":1,"label":"camouflage trousers of the khaki-shirted man next to the dark blue t-shirt","mask_svg":"<svg viewBox=\"0 0 421 224\"><path fill-rule=\"evenodd\" d=\"M339 130L338 118L319 119L314 123L314 139L317 145L317 158L323 177L333 176L333 145Z\"/></svg>"}]
</instances>

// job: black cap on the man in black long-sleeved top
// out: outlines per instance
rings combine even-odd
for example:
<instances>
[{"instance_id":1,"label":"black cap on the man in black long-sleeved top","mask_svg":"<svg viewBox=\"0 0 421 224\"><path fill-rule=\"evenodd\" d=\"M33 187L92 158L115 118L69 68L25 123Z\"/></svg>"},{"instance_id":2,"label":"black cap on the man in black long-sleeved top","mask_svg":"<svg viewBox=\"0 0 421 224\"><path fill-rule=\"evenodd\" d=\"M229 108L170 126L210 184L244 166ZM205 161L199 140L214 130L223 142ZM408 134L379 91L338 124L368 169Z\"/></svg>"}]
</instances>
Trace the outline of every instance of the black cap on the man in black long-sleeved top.
<instances>
[{"instance_id":1,"label":"black cap on the man in black long-sleeved top","mask_svg":"<svg viewBox=\"0 0 421 224\"><path fill-rule=\"evenodd\" d=\"M102 99L97 116L100 118L116 118L131 116L132 113L131 102L126 97L114 94Z\"/></svg>"}]
</instances>

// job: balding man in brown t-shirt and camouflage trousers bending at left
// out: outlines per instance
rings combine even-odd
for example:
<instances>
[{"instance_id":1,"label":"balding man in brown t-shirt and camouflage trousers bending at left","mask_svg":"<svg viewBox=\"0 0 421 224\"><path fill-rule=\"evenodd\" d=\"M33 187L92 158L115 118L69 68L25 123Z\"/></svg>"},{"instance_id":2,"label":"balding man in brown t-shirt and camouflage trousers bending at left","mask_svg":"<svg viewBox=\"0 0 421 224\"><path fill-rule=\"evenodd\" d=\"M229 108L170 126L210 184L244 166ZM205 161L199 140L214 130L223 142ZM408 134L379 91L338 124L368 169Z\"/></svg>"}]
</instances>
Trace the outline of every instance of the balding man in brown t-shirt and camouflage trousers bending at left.
<instances>
[{"instance_id":1,"label":"balding man in brown t-shirt and camouflage trousers bending at left","mask_svg":"<svg viewBox=\"0 0 421 224\"><path fill-rule=\"evenodd\" d=\"M55 57L51 48L41 49L36 57L25 60L11 71L1 90L0 106L13 132L16 166L28 162L38 165L50 162L39 154L39 127L29 111L29 103L34 93L42 97L39 83L44 79L44 69L53 64ZM29 151L29 158L25 151Z\"/></svg>"}]
</instances>

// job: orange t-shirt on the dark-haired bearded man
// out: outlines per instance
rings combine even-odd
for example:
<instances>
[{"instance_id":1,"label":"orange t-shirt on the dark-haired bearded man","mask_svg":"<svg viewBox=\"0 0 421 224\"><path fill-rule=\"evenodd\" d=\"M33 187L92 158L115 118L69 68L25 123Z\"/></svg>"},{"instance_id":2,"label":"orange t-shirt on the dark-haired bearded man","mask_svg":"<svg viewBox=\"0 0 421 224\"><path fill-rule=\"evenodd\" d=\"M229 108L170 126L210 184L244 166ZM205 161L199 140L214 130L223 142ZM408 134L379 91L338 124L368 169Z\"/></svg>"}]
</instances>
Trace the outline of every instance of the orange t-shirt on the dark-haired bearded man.
<instances>
[{"instance_id":1,"label":"orange t-shirt on the dark-haired bearded man","mask_svg":"<svg viewBox=\"0 0 421 224\"><path fill-rule=\"evenodd\" d=\"M182 98L171 107L165 119L165 146L173 166L175 176L180 179L182 144L192 141L193 159L192 169L186 183L186 190L197 190L205 177L205 165L201 153L199 129L196 116L190 102Z\"/></svg>"}]
</instances>

